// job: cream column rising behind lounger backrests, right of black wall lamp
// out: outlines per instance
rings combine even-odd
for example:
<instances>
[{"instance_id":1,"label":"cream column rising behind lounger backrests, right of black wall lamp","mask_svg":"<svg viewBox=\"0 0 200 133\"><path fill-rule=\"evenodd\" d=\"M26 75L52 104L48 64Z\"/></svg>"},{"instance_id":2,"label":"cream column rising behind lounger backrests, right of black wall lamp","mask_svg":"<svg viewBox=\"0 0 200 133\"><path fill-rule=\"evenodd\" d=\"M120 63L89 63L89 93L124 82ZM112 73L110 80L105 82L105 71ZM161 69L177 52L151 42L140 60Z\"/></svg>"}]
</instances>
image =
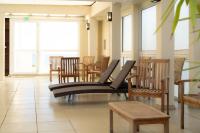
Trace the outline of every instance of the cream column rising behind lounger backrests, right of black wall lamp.
<instances>
[{"instance_id":1,"label":"cream column rising behind lounger backrests, right of black wall lamp","mask_svg":"<svg viewBox=\"0 0 200 133\"><path fill-rule=\"evenodd\" d=\"M110 50L111 59L120 59L121 45L121 4L112 5L112 22L110 23ZM115 69L113 75L119 73L120 67Z\"/></svg>"}]
</instances>

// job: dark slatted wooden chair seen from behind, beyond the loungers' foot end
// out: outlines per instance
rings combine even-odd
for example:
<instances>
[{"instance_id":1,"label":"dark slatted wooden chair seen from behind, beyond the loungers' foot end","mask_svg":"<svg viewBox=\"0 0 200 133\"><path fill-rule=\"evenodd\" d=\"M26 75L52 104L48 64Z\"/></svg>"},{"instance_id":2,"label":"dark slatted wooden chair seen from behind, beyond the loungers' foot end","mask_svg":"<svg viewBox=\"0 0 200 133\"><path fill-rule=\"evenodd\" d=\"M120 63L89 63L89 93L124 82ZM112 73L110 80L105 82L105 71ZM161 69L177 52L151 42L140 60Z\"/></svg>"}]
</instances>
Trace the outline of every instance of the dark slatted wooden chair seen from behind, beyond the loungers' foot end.
<instances>
[{"instance_id":1,"label":"dark slatted wooden chair seen from behind, beyond the loungers' foot end","mask_svg":"<svg viewBox=\"0 0 200 133\"><path fill-rule=\"evenodd\" d=\"M65 57L61 58L61 68L59 70L59 83L65 83L65 79L67 78L67 82L69 82L69 77L74 78L74 82L76 82L76 78L79 79L78 65L79 57Z\"/></svg>"}]
</instances>

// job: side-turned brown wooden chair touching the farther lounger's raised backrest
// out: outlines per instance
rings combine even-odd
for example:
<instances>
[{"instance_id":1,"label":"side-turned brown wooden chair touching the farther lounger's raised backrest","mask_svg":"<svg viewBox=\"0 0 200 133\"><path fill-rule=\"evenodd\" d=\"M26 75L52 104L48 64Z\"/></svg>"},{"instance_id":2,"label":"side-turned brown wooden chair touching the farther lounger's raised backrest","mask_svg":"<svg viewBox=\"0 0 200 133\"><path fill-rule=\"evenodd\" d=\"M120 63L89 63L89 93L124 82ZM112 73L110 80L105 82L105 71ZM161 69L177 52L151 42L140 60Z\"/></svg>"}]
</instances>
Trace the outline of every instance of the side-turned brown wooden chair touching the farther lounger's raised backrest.
<instances>
[{"instance_id":1,"label":"side-turned brown wooden chair touching the farther lounger's raised backrest","mask_svg":"<svg viewBox=\"0 0 200 133\"><path fill-rule=\"evenodd\" d=\"M88 71L88 75L90 76L90 81L94 82L95 76L99 76L101 73L103 73L107 67L108 67L108 63L109 63L109 56L104 56L101 58L100 62L96 62L91 69L89 69Z\"/></svg>"}]
</instances>

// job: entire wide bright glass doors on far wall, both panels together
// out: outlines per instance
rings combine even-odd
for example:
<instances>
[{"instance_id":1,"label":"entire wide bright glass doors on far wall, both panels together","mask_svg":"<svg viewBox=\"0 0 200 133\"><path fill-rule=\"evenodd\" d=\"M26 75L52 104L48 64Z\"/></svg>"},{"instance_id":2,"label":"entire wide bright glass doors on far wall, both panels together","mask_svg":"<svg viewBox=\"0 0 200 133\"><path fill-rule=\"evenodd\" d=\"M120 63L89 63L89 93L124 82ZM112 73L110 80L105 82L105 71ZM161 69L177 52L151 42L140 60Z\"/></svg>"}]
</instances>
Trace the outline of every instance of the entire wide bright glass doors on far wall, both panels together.
<instances>
[{"instance_id":1,"label":"entire wide bright glass doors on far wall, both panels together","mask_svg":"<svg viewBox=\"0 0 200 133\"><path fill-rule=\"evenodd\" d=\"M46 74L49 56L79 56L77 21L14 20L12 23L12 74Z\"/></svg>"}]
</instances>

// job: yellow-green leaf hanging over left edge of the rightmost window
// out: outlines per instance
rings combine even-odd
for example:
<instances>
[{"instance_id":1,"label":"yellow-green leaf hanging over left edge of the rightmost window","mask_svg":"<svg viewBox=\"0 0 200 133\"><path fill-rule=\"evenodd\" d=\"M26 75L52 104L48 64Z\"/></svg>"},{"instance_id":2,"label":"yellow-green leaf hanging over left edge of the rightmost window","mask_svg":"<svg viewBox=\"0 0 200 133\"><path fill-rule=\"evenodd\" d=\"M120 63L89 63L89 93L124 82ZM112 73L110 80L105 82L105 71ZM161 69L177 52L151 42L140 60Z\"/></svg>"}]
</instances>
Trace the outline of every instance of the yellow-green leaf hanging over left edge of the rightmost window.
<instances>
[{"instance_id":1,"label":"yellow-green leaf hanging over left edge of the rightmost window","mask_svg":"<svg viewBox=\"0 0 200 133\"><path fill-rule=\"evenodd\" d=\"M173 22L173 26L172 26L172 34L174 34L174 32L176 30L183 2L184 2L184 0L180 0L179 3L178 3L178 5L177 5L177 7L176 7L176 12L175 12L175 16L174 16L174 22Z\"/></svg>"}]
</instances>

